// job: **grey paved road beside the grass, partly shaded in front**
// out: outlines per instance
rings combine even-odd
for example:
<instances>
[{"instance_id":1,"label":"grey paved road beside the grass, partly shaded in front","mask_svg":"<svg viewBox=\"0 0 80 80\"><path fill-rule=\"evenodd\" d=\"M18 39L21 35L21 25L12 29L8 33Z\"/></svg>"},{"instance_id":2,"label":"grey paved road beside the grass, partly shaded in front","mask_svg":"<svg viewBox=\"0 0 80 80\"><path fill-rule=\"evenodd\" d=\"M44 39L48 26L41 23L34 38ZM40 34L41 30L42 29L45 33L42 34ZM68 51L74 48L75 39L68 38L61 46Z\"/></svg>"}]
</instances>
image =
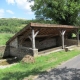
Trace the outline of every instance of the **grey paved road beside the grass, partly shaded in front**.
<instances>
[{"instance_id":1,"label":"grey paved road beside the grass, partly shaded in front","mask_svg":"<svg viewBox=\"0 0 80 80\"><path fill-rule=\"evenodd\" d=\"M80 55L56 69L40 74L35 80L80 80Z\"/></svg>"}]
</instances>

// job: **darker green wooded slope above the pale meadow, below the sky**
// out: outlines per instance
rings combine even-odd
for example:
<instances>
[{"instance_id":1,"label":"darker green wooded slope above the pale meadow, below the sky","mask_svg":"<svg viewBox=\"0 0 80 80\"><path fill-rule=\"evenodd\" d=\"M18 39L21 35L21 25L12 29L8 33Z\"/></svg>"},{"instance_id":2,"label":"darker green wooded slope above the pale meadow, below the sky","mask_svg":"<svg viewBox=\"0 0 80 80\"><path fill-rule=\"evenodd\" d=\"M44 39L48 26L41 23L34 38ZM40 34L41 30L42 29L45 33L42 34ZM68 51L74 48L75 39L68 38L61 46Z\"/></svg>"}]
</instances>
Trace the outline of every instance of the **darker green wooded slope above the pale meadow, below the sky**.
<instances>
[{"instance_id":1,"label":"darker green wooded slope above the pale meadow, below the sky","mask_svg":"<svg viewBox=\"0 0 80 80\"><path fill-rule=\"evenodd\" d=\"M16 33L25 25L30 23L30 20L1 18L0 19L0 33Z\"/></svg>"}]
</instances>

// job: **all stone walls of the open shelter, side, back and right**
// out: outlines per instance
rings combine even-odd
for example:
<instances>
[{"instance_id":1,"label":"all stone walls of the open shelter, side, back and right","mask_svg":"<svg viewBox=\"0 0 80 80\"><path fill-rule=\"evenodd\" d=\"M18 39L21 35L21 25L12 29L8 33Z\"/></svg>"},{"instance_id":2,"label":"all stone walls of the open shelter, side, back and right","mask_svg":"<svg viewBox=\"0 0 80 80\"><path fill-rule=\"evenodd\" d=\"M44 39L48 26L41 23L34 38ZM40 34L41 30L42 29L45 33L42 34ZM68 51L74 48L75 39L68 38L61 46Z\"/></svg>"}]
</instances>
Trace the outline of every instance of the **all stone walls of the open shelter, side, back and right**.
<instances>
[{"instance_id":1,"label":"all stone walls of the open shelter, side, back and right","mask_svg":"<svg viewBox=\"0 0 80 80\"><path fill-rule=\"evenodd\" d=\"M21 44L20 44L21 45ZM45 49L53 46L61 46L61 38L60 37L54 37L54 38L42 38L42 39L36 39L36 48L37 49ZM77 45L77 40L73 39L65 39L65 45ZM28 40L22 44L22 46L19 46L17 39L12 41L10 43L10 51L11 56L16 56L18 58L23 58L25 55L33 55L35 51L38 50L32 50L31 41ZM9 46L8 46L9 48ZM37 53L37 52L36 52Z\"/></svg>"}]
</instances>

